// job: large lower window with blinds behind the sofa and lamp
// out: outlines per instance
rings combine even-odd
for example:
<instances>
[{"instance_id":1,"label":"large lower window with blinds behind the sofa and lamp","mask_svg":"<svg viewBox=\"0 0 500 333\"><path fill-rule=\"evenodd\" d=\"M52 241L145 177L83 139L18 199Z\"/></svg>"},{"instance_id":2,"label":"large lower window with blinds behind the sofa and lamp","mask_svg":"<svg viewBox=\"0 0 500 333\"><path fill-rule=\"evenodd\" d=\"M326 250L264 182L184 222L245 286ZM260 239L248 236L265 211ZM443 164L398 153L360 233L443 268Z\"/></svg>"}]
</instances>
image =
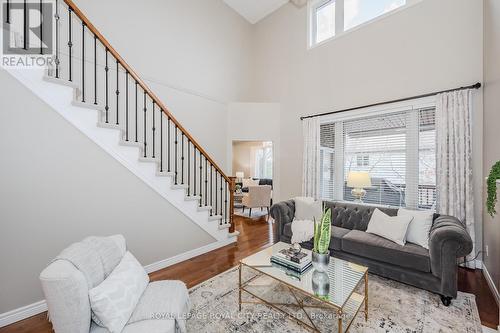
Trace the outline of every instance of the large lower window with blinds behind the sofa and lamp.
<instances>
[{"instance_id":1,"label":"large lower window with blinds behind the sofa and lamp","mask_svg":"<svg viewBox=\"0 0 500 333\"><path fill-rule=\"evenodd\" d=\"M372 116L322 124L320 189L323 199L354 201L347 176L351 171L364 171L372 183L365 188L364 202L434 209L435 137L433 107L376 112Z\"/></svg>"}]
</instances>

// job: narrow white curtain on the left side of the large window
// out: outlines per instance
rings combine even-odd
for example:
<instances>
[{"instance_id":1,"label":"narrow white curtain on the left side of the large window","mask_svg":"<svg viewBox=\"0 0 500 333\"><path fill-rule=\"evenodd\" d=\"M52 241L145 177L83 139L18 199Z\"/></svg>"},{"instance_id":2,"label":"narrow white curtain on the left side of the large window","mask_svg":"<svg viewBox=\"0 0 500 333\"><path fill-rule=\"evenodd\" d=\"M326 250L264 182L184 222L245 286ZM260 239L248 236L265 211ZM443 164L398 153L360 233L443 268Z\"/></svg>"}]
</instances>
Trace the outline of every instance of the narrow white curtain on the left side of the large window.
<instances>
[{"instance_id":1,"label":"narrow white curtain on the left side of the large window","mask_svg":"<svg viewBox=\"0 0 500 333\"><path fill-rule=\"evenodd\" d=\"M304 158L302 163L302 195L319 198L320 121L318 117L302 120Z\"/></svg>"}]
</instances>

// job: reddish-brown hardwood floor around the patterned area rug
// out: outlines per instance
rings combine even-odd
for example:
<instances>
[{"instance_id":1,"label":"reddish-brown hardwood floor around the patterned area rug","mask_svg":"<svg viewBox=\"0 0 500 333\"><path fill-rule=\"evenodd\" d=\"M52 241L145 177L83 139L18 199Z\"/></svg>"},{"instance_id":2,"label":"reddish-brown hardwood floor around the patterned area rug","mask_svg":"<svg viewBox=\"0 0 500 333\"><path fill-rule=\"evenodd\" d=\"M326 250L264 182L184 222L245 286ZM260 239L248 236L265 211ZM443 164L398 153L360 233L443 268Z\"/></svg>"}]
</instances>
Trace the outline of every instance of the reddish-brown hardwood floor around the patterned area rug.
<instances>
[{"instance_id":1,"label":"reddish-brown hardwood floor around the patterned area rug","mask_svg":"<svg viewBox=\"0 0 500 333\"><path fill-rule=\"evenodd\" d=\"M274 243L274 224L265 218L251 220L235 216L238 242L150 274L152 281L180 279L188 288L201 283L238 264L238 261ZM483 325L498 326L498 306L480 270L460 269L458 289L476 295ZM0 333L51 333L47 314L42 313L15 324L0 328Z\"/></svg>"}]
</instances>

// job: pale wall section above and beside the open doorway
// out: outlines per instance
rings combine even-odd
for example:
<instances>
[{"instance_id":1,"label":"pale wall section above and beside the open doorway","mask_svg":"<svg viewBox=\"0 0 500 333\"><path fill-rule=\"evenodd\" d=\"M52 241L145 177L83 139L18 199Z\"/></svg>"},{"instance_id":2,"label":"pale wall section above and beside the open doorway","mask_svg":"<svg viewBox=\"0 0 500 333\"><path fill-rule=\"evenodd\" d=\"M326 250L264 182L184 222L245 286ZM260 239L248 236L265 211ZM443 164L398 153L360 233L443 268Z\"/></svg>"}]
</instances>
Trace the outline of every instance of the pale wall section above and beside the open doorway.
<instances>
[{"instance_id":1,"label":"pale wall section above and beside the open doorway","mask_svg":"<svg viewBox=\"0 0 500 333\"><path fill-rule=\"evenodd\" d=\"M231 103L228 115L228 160L233 160L233 141L273 142L273 199L281 197L281 107L276 103ZM231 170L231 174L239 170Z\"/></svg>"}]
</instances>

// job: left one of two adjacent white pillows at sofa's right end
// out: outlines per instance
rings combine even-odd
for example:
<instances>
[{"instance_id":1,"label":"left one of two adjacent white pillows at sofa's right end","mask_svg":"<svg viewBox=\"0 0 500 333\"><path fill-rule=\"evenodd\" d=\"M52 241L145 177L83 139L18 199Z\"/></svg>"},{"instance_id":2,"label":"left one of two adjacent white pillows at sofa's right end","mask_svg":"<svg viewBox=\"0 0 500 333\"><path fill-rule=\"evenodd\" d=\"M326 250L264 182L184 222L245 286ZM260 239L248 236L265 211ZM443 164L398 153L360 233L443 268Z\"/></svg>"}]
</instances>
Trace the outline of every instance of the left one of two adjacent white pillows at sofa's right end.
<instances>
[{"instance_id":1,"label":"left one of two adjacent white pillows at sofa's right end","mask_svg":"<svg viewBox=\"0 0 500 333\"><path fill-rule=\"evenodd\" d=\"M412 216L389 216L375 208L366 232L404 246L406 244L406 231L411 220L413 220Z\"/></svg>"}]
</instances>

